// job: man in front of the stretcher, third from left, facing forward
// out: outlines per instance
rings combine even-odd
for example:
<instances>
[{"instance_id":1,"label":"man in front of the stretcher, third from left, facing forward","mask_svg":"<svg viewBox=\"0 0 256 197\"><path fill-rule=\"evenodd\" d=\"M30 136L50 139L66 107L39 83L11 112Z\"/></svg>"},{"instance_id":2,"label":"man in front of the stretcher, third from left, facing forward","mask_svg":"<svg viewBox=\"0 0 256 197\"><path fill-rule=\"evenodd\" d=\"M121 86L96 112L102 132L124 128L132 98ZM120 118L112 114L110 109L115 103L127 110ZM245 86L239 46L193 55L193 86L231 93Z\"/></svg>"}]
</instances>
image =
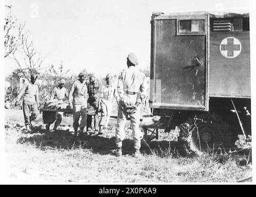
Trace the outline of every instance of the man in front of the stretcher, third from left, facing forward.
<instances>
[{"instance_id":1,"label":"man in front of the stretcher, third from left, facing forward","mask_svg":"<svg viewBox=\"0 0 256 197\"><path fill-rule=\"evenodd\" d=\"M73 82L68 95L69 107L73 110L73 128L74 135L77 135L78 127L80 127L80 134L83 133L86 126L87 118L87 99L88 91L86 87L86 73L81 72L78 75L79 79ZM79 124L79 118L81 115L81 121Z\"/></svg>"}]
</instances>

